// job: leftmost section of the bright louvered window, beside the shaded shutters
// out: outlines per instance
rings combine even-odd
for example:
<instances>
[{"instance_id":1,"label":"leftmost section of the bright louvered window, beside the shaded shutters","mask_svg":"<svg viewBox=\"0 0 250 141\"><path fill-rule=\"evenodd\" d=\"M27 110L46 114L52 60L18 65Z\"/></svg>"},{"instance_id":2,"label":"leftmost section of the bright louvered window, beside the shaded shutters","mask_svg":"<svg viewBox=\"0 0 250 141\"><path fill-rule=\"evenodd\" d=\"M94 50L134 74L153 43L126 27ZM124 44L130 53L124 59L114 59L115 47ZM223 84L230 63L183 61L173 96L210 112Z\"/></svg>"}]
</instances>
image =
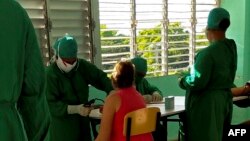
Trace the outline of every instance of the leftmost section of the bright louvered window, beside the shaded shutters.
<instances>
[{"instance_id":1,"label":"leftmost section of the bright louvered window, beside the shaded shutters","mask_svg":"<svg viewBox=\"0 0 250 141\"><path fill-rule=\"evenodd\" d=\"M99 0L102 69L111 72L114 64L132 53L130 0Z\"/></svg>"}]
</instances>

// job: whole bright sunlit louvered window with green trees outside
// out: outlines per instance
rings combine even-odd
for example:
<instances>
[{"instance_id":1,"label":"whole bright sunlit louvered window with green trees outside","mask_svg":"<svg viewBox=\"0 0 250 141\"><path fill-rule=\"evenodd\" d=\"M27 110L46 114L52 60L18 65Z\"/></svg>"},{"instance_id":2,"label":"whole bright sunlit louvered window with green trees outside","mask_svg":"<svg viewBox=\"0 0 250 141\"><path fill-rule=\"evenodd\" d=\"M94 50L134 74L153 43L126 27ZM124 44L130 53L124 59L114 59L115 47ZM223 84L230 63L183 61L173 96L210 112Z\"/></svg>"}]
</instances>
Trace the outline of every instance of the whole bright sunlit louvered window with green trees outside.
<instances>
[{"instance_id":1,"label":"whole bright sunlit louvered window with green trees outside","mask_svg":"<svg viewBox=\"0 0 250 141\"><path fill-rule=\"evenodd\" d=\"M148 75L170 75L208 45L205 26L216 0L99 0L102 68L142 56Z\"/></svg>"}]
</instances>

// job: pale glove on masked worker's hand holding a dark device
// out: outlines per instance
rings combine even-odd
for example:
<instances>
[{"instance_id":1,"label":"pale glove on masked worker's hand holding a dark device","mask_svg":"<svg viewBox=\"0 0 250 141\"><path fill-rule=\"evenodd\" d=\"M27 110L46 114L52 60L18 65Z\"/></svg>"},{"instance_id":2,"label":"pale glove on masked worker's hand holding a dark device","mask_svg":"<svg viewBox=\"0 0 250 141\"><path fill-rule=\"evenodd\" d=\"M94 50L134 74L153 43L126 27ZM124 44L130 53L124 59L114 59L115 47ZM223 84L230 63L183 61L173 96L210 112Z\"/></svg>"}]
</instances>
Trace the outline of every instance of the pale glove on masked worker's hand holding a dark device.
<instances>
[{"instance_id":1,"label":"pale glove on masked worker's hand holding a dark device","mask_svg":"<svg viewBox=\"0 0 250 141\"><path fill-rule=\"evenodd\" d=\"M84 107L83 104L80 105L68 105L68 114L79 114L81 116L88 116L92 110L92 106Z\"/></svg>"}]
</instances>

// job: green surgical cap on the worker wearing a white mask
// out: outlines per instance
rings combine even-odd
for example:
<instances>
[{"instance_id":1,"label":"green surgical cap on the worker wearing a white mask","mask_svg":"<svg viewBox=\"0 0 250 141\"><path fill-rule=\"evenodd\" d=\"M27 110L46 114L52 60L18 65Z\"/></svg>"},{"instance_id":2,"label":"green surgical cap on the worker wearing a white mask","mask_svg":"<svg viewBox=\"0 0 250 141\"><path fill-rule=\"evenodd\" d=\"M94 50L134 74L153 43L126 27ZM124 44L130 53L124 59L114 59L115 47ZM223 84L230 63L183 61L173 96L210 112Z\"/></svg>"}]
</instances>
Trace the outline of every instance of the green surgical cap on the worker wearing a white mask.
<instances>
[{"instance_id":1,"label":"green surgical cap on the worker wearing a white mask","mask_svg":"<svg viewBox=\"0 0 250 141\"><path fill-rule=\"evenodd\" d=\"M77 57L77 43L74 37L65 35L58 39L54 44L56 55L61 58L76 58Z\"/></svg>"}]
</instances>

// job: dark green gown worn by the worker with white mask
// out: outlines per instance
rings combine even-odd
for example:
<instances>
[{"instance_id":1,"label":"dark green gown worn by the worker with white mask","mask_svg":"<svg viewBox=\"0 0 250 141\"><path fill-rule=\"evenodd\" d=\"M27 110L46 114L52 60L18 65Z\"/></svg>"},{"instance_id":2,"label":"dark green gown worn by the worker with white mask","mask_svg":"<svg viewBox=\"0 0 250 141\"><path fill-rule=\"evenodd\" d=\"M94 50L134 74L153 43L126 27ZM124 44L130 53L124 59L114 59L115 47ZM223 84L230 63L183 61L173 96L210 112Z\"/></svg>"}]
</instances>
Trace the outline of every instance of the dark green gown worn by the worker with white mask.
<instances>
[{"instance_id":1,"label":"dark green gown worn by the worker with white mask","mask_svg":"<svg viewBox=\"0 0 250 141\"><path fill-rule=\"evenodd\" d=\"M90 141L89 118L69 115L67 106L86 103L89 85L109 93L113 88L107 74L83 59L78 59L76 67L69 73L63 73L53 63L47 69L47 84L52 141Z\"/></svg>"}]
</instances>

